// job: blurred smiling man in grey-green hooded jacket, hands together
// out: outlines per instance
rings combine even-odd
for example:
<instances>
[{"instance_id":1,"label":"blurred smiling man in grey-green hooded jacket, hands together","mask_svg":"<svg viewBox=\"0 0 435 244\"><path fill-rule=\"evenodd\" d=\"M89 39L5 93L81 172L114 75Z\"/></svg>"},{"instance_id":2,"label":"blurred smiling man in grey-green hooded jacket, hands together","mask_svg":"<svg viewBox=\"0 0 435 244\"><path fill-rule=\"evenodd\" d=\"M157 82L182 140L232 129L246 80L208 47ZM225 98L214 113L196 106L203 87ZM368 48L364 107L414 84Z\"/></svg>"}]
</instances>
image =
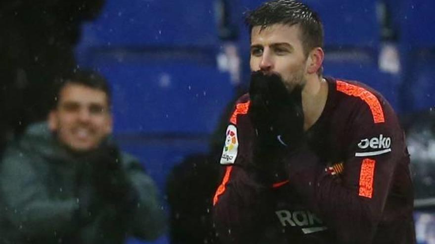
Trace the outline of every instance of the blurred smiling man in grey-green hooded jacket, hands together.
<instances>
[{"instance_id":1,"label":"blurred smiling man in grey-green hooded jacket, hands together","mask_svg":"<svg viewBox=\"0 0 435 244\"><path fill-rule=\"evenodd\" d=\"M75 71L60 80L47 123L4 151L0 243L122 244L153 240L166 218L140 163L110 140L106 80Z\"/></svg>"}]
</instances>

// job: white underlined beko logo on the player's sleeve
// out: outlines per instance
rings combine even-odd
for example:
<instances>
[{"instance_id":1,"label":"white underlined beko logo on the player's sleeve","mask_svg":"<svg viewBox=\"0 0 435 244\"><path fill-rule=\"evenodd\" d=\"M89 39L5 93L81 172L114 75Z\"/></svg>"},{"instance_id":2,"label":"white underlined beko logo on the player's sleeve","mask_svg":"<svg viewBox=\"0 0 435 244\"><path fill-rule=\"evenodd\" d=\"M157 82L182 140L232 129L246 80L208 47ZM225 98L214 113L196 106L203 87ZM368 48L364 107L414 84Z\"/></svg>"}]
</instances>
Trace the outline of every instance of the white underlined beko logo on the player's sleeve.
<instances>
[{"instance_id":1,"label":"white underlined beko logo on the player's sleeve","mask_svg":"<svg viewBox=\"0 0 435 244\"><path fill-rule=\"evenodd\" d=\"M376 156L391 152L391 138L379 135L379 137L361 139L358 148L369 151L355 152L356 157Z\"/></svg>"}]
</instances>

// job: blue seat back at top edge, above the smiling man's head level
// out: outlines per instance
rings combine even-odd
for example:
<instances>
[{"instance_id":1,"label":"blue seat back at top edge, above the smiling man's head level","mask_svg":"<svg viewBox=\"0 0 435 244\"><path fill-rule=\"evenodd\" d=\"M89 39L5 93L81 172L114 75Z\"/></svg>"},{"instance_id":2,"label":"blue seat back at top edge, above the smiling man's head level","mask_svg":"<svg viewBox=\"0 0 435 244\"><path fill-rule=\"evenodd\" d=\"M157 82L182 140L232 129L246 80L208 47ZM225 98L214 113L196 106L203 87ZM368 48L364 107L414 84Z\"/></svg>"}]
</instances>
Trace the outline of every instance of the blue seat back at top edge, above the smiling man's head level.
<instances>
[{"instance_id":1,"label":"blue seat back at top edge, above the smiling man's head level","mask_svg":"<svg viewBox=\"0 0 435 244\"><path fill-rule=\"evenodd\" d=\"M83 26L87 46L210 46L217 43L213 0L107 0Z\"/></svg>"}]
</instances>

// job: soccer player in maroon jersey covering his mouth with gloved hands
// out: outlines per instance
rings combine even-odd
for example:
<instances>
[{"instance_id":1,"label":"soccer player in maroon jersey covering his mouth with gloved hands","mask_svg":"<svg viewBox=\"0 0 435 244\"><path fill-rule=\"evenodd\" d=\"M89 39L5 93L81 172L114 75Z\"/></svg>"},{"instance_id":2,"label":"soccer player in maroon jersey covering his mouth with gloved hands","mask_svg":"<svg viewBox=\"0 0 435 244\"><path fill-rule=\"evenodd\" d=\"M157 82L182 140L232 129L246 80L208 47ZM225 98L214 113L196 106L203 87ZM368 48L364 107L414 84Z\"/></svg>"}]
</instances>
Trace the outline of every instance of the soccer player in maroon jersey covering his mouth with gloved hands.
<instances>
[{"instance_id":1,"label":"soccer player in maroon jersey covering his mouth with gloved hands","mask_svg":"<svg viewBox=\"0 0 435 244\"><path fill-rule=\"evenodd\" d=\"M220 159L220 242L415 243L409 154L389 103L323 77L322 24L303 3L265 2L247 23L253 73Z\"/></svg>"}]
</instances>

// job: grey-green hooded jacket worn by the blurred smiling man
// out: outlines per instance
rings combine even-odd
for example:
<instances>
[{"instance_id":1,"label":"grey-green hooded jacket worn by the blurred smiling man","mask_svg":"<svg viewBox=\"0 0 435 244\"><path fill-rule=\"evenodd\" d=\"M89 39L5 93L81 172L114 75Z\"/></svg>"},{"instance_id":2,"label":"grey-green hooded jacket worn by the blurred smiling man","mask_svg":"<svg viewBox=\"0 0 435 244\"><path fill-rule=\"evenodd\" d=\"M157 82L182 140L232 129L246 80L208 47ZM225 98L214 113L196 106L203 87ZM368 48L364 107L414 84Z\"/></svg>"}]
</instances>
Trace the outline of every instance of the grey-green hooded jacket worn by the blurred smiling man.
<instances>
[{"instance_id":1,"label":"grey-green hooded jacket worn by the blurred smiling man","mask_svg":"<svg viewBox=\"0 0 435 244\"><path fill-rule=\"evenodd\" d=\"M0 243L120 244L130 235L162 235L166 217L153 180L133 157L123 153L121 161L138 199L125 212L98 199L87 171L92 162L60 145L46 123L31 125L0 164ZM85 203L94 210L83 220Z\"/></svg>"}]
</instances>

